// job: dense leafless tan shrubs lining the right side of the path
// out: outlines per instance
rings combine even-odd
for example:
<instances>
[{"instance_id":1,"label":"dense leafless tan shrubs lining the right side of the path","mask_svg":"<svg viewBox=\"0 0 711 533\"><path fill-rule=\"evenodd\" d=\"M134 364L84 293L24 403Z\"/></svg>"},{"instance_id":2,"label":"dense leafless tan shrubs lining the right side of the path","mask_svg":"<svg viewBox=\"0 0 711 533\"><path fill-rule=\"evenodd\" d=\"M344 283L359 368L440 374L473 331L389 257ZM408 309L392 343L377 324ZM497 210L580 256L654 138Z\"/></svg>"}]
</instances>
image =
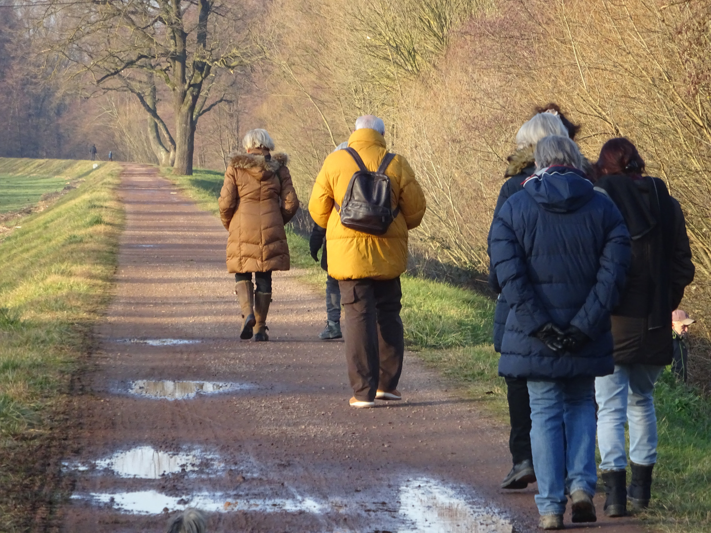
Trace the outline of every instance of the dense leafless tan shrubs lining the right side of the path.
<instances>
[{"instance_id":1,"label":"dense leafless tan shrubs lining the right side of the path","mask_svg":"<svg viewBox=\"0 0 711 533\"><path fill-rule=\"evenodd\" d=\"M683 306L708 338L710 0L325 4L275 3L269 25L279 31L264 41L273 67L258 117L291 153L302 197L355 117L379 114L427 194L412 248L486 271L515 131L536 105L557 102L582 124L588 158L627 136L680 200L697 266Z\"/></svg>"}]
</instances>

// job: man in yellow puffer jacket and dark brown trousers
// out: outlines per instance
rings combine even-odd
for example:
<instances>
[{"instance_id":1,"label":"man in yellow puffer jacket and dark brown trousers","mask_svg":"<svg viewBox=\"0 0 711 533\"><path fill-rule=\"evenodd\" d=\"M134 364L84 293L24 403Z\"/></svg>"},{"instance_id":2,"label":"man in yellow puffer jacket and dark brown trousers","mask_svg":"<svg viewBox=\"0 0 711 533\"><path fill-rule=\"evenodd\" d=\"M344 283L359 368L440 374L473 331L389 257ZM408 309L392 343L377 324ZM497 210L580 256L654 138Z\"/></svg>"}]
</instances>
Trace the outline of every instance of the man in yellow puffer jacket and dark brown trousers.
<instances>
[{"instance_id":1,"label":"man in yellow puffer jacket and dark brown trousers","mask_svg":"<svg viewBox=\"0 0 711 533\"><path fill-rule=\"evenodd\" d=\"M387 149L385 124L373 115L359 117L348 146L370 171L377 170ZM341 225L341 205L353 174L358 171L346 150L333 152L314 183L309 212L326 228L328 274L338 279L346 340L348 377L353 407L373 407L375 399L401 399L397 382L405 352L400 320L400 274L407 267L407 232L419 226L424 194L415 173L402 156L395 156L385 173L392 187L392 209L400 208L384 235L351 230Z\"/></svg>"}]
</instances>

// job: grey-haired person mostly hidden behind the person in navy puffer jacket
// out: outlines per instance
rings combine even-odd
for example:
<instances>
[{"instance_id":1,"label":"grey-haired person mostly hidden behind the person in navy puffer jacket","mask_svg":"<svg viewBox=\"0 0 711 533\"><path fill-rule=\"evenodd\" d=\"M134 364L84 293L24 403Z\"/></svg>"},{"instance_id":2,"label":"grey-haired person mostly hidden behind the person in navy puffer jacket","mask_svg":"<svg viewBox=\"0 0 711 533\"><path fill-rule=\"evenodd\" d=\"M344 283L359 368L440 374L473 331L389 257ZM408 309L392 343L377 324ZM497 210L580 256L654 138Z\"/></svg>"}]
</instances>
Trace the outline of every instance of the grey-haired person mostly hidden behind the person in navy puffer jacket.
<instances>
[{"instance_id":1,"label":"grey-haired person mostly hidden behind the person in navy puffer jacket","mask_svg":"<svg viewBox=\"0 0 711 533\"><path fill-rule=\"evenodd\" d=\"M555 109L547 109L548 107ZM543 108L540 108L543 109ZM550 112L545 112L549 110ZM508 168L506 169L506 183L501 186L498 193L496 207L493 210L493 217L501 210L501 206L508 198L523 189L523 182L535 172L535 161L533 160L533 150L539 139L548 135L569 135L574 136L578 126L574 126L560 114L560 109L555 104L548 104L542 112L534 117L518 130L516 134L516 144L518 148L508 157ZM488 235L488 245L491 247L491 229ZM491 257L491 254L490 254ZM501 287L496 281L496 273L493 268L489 268L489 286L498 294L496 310L494 311L493 325L493 347L497 352L501 352L501 338L503 328L508 316L508 303L501 294ZM533 470L533 458L531 456L531 409L528 404L528 385L524 378L506 378L506 397L508 399L508 414L511 424L511 431L508 438L508 448L511 452L513 467L506 478L501 483L504 489L522 489L529 483L535 482L535 471Z\"/></svg>"}]
</instances>

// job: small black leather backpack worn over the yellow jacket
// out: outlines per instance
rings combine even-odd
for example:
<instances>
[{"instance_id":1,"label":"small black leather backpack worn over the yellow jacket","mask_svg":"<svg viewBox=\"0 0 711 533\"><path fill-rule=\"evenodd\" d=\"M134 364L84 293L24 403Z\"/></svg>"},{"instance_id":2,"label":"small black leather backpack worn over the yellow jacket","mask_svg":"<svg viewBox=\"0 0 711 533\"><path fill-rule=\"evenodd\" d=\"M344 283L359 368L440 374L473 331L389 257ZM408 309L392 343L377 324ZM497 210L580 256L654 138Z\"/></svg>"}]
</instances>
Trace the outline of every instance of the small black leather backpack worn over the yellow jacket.
<instances>
[{"instance_id":1,"label":"small black leather backpack worn over the yellow jacket","mask_svg":"<svg viewBox=\"0 0 711 533\"><path fill-rule=\"evenodd\" d=\"M400 208L390 208L392 190L390 178L385 176L385 169L395 154L385 154L378 170L371 172L365 167L357 151L350 146L345 150L351 154L355 163L358 163L360 170L356 171L348 182L342 205L336 204L338 215L341 215L341 224L370 235L383 235L400 212Z\"/></svg>"}]
</instances>

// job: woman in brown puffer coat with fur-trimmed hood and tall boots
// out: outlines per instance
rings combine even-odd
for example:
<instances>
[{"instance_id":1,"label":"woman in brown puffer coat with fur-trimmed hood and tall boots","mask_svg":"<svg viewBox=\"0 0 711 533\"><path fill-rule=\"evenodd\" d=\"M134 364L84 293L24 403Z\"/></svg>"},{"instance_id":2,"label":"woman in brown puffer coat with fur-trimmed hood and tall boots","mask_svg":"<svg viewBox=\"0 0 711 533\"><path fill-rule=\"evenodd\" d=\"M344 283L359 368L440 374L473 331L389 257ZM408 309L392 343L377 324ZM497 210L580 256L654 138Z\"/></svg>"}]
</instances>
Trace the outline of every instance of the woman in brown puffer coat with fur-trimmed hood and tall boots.
<instances>
[{"instance_id":1,"label":"woman in brown puffer coat with fur-trimmed hood and tall boots","mask_svg":"<svg viewBox=\"0 0 711 533\"><path fill-rule=\"evenodd\" d=\"M252 338L256 327L255 340L269 340L272 271L289 270L284 224L296 214L299 199L287 168L289 158L271 153L274 141L267 130L247 131L242 145L247 153L231 155L225 172L220 218L230 232L227 267L235 274L235 294L242 308L240 338Z\"/></svg>"}]
</instances>

